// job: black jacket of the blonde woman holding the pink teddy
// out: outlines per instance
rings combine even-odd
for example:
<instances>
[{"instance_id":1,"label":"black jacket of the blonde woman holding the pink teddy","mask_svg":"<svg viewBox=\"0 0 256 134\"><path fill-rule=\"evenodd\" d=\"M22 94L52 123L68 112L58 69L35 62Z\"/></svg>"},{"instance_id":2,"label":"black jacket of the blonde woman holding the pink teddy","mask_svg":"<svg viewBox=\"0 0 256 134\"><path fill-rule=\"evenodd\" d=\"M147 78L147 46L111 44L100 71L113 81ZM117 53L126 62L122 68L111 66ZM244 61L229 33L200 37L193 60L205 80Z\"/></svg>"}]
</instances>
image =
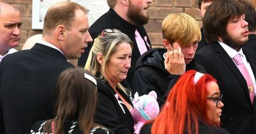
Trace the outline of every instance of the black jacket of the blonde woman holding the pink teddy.
<instances>
[{"instance_id":1,"label":"black jacket of the blonde woman holding the pink teddy","mask_svg":"<svg viewBox=\"0 0 256 134\"><path fill-rule=\"evenodd\" d=\"M101 80L97 80L97 89L98 100L94 117L95 123L106 126L106 128L109 128L115 134L132 134L134 132L132 115L128 108L122 105L125 111L124 114L124 111L116 100L116 93L108 81L102 82ZM132 105L129 96L120 90L118 91Z\"/></svg>"}]
</instances>

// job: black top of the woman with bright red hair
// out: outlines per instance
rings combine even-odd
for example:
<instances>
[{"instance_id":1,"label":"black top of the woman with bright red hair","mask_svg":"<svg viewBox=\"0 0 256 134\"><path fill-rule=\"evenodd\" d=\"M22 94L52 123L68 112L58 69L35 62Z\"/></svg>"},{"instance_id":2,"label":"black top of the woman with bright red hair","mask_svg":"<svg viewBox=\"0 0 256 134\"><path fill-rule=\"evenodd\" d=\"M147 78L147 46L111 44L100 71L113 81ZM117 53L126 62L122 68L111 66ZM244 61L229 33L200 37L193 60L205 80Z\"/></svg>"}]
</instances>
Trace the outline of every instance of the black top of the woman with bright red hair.
<instances>
[{"instance_id":1,"label":"black top of the woman with bright red hair","mask_svg":"<svg viewBox=\"0 0 256 134\"><path fill-rule=\"evenodd\" d=\"M140 131L140 134L151 134L151 128L153 123L145 124ZM218 128L215 126L208 126L206 124L200 123L198 128L198 134L230 134L227 130L223 128Z\"/></svg>"}]
</instances>

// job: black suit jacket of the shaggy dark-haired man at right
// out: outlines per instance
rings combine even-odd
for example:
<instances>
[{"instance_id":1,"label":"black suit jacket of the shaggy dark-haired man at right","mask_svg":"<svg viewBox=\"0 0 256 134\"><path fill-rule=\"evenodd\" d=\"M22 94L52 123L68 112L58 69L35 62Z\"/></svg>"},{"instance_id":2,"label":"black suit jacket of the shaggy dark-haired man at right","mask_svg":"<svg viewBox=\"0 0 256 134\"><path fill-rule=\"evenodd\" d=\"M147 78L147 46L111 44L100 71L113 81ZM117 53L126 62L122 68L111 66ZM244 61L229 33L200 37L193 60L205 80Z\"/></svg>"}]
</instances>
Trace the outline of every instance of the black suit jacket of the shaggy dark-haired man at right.
<instances>
[{"instance_id":1,"label":"black suit jacket of the shaggy dark-haired man at right","mask_svg":"<svg viewBox=\"0 0 256 134\"><path fill-rule=\"evenodd\" d=\"M256 76L255 53L247 48L243 52ZM195 58L218 80L224 103L222 127L232 134L255 134L256 105L252 106L246 80L227 52L216 42L200 49Z\"/></svg>"}]
</instances>

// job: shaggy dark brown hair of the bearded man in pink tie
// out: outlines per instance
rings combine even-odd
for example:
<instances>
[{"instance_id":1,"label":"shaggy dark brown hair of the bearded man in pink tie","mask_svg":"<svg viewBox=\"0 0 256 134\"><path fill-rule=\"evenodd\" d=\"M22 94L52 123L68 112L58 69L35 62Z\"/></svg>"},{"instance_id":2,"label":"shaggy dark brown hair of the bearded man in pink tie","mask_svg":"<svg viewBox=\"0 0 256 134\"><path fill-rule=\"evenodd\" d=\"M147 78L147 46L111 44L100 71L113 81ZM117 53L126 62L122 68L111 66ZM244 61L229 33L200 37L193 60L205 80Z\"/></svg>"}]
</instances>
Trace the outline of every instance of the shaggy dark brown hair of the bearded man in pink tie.
<instances>
[{"instance_id":1,"label":"shaggy dark brown hair of the bearded man in pink tie","mask_svg":"<svg viewBox=\"0 0 256 134\"><path fill-rule=\"evenodd\" d=\"M245 13L244 7L234 0L217 0L205 11L203 19L204 35L207 43L218 41L218 37L227 34L230 19Z\"/></svg>"}]
</instances>

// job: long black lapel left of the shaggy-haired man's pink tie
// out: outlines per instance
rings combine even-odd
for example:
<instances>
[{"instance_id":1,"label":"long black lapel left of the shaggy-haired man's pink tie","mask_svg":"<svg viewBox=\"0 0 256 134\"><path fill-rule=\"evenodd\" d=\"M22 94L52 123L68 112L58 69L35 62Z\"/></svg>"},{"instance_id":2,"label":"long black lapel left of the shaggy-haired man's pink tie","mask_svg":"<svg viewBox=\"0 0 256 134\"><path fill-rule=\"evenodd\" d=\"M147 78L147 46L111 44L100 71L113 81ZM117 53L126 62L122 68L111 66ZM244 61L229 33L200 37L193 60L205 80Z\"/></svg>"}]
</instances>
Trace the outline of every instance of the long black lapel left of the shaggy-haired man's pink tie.
<instances>
[{"instance_id":1,"label":"long black lapel left of the shaggy-haired man's pink tie","mask_svg":"<svg viewBox=\"0 0 256 134\"><path fill-rule=\"evenodd\" d=\"M243 93L245 94L245 96L247 98L248 104L250 104L250 107L252 107L251 100L250 100L250 94L248 92L248 87L247 87L247 84L246 84L246 80L244 79L242 73L239 71L239 69L237 68L234 61L228 56L227 52L221 47L221 45L219 43L214 44L214 46L212 46L212 47L214 48L215 52L218 54L220 59L222 59L223 62L228 66L228 68L230 68L232 73L234 73L237 80L239 81L239 83L243 87ZM256 71L253 71L253 73L254 72L256 72Z\"/></svg>"}]
</instances>

